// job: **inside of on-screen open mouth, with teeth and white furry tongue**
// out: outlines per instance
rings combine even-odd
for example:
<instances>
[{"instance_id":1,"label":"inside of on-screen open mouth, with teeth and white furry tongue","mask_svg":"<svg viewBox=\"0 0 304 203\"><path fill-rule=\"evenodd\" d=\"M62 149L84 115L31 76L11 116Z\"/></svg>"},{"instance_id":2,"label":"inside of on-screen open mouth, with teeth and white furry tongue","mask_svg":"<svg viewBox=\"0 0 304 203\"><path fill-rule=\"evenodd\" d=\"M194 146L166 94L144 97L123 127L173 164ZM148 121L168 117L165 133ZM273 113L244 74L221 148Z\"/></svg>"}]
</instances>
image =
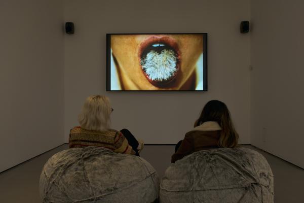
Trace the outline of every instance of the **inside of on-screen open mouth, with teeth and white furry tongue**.
<instances>
[{"instance_id":1,"label":"inside of on-screen open mouth, with teeth and white furry tongue","mask_svg":"<svg viewBox=\"0 0 304 203\"><path fill-rule=\"evenodd\" d=\"M141 67L152 81L168 81L177 71L175 51L164 44L154 44L146 49L140 60Z\"/></svg>"}]
</instances>

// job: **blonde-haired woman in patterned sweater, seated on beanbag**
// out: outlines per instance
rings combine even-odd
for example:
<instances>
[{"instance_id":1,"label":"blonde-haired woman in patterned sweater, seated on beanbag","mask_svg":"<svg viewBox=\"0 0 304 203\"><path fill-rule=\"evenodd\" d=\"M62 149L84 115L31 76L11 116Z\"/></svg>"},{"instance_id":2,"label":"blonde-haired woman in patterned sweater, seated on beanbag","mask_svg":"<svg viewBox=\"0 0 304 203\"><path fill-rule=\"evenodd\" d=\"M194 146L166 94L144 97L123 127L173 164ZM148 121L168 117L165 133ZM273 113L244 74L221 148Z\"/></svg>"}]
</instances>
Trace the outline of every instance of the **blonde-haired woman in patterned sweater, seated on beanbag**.
<instances>
[{"instance_id":1,"label":"blonde-haired woman in patterned sweater, seated on beanbag","mask_svg":"<svg viewBox=\"0 0 304 203\"><path fill-rule=\"evenodd\" d=\"M89 96L78 117L80 126L70 130L69 148L97 146L117 153L139 156L143 142L139 144L127 129L121 131L110 129L112 111L106 96Z\"/></svg>"}]
</instances>

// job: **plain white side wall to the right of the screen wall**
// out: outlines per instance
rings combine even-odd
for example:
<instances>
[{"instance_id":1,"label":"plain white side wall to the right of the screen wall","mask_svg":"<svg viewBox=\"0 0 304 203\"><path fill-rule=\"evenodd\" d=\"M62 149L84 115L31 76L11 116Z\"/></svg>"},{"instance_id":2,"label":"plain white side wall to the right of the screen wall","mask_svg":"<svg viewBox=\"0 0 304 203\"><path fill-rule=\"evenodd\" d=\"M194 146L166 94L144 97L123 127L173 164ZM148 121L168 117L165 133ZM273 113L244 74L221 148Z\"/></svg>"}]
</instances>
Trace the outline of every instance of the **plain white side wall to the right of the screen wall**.
<instances>
[{"instance_id":1,"label":"plain white side wall to the right of the screen wall","mask_svg":"<svg viewBox=\"0 0 304 203\"><path fill-rule=\"evenodd\" d=\"M303 9L303 1L251 1L251 142L301 167Z\"/></svg>"}]
</instances>

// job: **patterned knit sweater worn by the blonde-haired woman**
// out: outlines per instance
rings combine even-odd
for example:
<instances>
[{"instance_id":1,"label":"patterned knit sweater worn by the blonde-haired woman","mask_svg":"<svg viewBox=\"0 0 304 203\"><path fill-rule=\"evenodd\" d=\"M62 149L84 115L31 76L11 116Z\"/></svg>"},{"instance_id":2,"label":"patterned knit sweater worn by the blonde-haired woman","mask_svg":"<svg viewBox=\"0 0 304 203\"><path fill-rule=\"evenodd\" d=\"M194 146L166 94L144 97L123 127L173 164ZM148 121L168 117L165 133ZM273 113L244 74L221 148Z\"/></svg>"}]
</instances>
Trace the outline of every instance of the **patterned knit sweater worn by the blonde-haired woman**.
<instances>
[{"instance_id":1,"label":"patterned knit sweater worn by the blonde-haired woman","mask_svg":"<svg viewBox=\"0 0 304 203\"><path fill-rule=\"evenodd\" d=\"M106 131L86 130L76 126L70 130L69 148L97 146L104 147L116 153L135 154L124 135L117 130Z\"/></svg>"}]
</instances>

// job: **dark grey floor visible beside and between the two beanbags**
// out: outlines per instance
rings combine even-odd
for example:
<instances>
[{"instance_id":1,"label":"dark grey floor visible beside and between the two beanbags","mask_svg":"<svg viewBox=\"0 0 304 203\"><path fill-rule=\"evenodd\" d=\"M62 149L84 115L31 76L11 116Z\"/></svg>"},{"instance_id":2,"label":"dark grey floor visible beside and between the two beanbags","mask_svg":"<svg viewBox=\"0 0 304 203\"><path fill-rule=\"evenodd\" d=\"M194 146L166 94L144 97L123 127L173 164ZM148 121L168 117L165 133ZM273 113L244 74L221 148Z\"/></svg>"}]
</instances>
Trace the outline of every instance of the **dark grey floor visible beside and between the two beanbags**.
<instances>
[{"instance_id":1,"label":"dark grey floor visible beside and between the two beanbags","mask_svg":"<svg viewBox=\"0 0 304 203\"><path fill-rule=\"evenodd\" d=\"M275 176L275 203L304 202L304 170L252 146L265 156ZM62 145L0 174L0 202L41 202L39 179L45 162L55 153L67 149ZM173 145L146 145L141 157L154 166L159 176L165 174L174 152Z\"/></svg>"}]
</instances>

